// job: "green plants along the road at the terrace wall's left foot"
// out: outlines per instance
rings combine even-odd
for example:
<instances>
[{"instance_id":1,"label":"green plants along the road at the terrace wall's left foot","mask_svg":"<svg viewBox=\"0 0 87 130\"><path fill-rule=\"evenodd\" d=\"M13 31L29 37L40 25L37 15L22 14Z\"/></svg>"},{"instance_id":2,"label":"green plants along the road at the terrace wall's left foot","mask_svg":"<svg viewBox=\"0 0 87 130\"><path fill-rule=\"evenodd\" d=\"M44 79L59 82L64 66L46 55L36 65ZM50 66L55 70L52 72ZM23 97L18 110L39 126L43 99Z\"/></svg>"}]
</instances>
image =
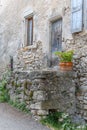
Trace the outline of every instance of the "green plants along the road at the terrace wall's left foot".
<instances>
[{"instance_id":1,"label":"green plants along the road at the terrace wall's left foot","mask_svg":"<svg viewBox=\"0 0 87 130\"><path fill-rule=\"evenodd\" d=\"M8 89L6 88L9 76L11 76L11 72L8 70L3 75L2 80L0 81L0 103L8 102L13 107L15 107L23 112L30 113L29 109L26 108L25 102L20 103L20 102L18 102L18 100L16 100L15 102L10 100L10 95L8 93ZM14 84L15 84L15 82L12 81L12 85L14 85ZM20 84L18 84L17 87L19 87L19 86L20 86ZM16 94L20 94L20 91L21 90L17 90Z\"/></svg>"}]
</instances>

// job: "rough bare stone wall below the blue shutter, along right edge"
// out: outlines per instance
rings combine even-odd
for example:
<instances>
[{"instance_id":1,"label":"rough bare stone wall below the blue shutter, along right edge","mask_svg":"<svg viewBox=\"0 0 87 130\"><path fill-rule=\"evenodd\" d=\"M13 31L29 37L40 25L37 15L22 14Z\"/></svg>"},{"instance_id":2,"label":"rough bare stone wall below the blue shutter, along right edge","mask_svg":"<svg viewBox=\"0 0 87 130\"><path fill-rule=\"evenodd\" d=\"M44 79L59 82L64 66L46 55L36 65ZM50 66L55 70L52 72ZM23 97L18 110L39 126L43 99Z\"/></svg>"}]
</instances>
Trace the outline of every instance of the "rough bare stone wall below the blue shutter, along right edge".
<instances>
[{"instance_id":1,"label":"rough bare stone wall below the blue shutter, along right edge","mask_svg":"<svg viewBox=\"0 0 87 130\"><path fill-rule=\"evenodd\" d=\"M87 37L78 34L75 36L76 48L74 55L74 71L76 74L75 86L77 95L77 111L87 120ZM74 45L76 46L76 45Z\"/></svg>"}]
</instances>

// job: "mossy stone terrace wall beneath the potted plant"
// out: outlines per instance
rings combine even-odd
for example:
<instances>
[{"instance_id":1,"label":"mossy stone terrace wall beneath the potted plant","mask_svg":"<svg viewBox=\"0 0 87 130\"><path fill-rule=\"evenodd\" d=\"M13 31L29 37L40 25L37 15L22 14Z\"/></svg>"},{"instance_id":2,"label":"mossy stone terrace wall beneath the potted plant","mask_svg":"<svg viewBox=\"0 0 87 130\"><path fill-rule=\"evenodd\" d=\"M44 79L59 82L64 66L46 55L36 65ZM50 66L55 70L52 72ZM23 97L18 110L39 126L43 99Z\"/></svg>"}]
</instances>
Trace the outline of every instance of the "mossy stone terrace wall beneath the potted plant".
<instances>
[{"instance_id":1,"label":"mossy stone terrace wall beneath the potted plant","mask_svg":"<svg viewBox=\"0 0 87 130\"><path fill-rule=\"evenodd\" d=\"M73 72L54 70L16 72L7 85L10 99L25 102L34 116L46 116L50 110L74 115L76 112Z\"/></svg>"}]
</instances>

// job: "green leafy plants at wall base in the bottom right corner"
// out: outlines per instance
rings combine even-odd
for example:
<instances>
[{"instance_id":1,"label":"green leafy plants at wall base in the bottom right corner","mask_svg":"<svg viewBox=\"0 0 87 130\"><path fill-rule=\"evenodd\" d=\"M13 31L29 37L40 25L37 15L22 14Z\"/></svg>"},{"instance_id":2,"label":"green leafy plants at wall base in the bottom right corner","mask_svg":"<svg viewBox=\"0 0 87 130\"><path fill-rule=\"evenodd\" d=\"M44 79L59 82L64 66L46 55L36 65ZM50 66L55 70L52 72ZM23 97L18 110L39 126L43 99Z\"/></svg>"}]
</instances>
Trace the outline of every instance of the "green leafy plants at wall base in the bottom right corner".
<instances>
[{"instance_id":1,"label":"green leafy plants at wall base in the bottom right corner","mask_svg":"<svg viewBox=\"0 0 87 130\"><path fill-rule=\"evenodd\" d=\"M41 123L53 130L87 130L87 125L76 125L71 122L68 114L52 112Z\"/></svg>"}]
</instances>

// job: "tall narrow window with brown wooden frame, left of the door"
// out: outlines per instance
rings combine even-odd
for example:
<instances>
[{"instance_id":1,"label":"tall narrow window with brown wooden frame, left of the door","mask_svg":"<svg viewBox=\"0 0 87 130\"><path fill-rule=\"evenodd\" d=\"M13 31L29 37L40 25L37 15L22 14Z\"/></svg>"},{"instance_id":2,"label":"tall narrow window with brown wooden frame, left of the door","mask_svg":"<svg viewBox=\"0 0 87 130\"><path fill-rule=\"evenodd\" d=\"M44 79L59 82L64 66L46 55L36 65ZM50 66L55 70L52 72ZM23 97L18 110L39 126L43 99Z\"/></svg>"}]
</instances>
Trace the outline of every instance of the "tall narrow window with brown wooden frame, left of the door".
<instances>
[{"instance_id":1,"label":"tall narrow window with brown wooden frame, left of the door","mask_svg":"<svg viewBox=\"0 0 87 130\"><path fill-rule=\"evenodd\" d=\"M33 45L33 18L26 18L27 46Z\"/></svg>"}]
</instances>

